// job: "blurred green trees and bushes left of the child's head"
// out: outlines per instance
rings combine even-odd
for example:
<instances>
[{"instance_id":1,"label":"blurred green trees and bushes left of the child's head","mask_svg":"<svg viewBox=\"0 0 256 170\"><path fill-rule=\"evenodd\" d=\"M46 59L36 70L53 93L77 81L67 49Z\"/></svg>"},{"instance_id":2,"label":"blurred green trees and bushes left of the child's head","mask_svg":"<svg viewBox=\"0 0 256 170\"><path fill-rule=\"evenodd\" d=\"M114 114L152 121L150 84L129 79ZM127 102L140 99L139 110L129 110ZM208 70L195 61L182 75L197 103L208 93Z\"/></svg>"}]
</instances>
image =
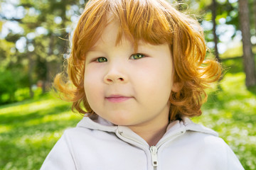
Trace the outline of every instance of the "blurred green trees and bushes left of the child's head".
<instances>
[{"instance_id":1,"label":"blurred green trees and bushes left of the child's head","mask_svg":"<svg viewBox=\"0 0 256 170\"><path fill-rule=\"evenodd\" d=\"M0 78L0 104L16 101L17 89L29 88L37 81L52 82L53 75L60 72L63 53L67 52L65 39L68 39L71 18L78 18L75 17L80 14L78 6L85 1L0 1L0 6L6 4L17 12L0 11L0 29L5 23L16 23L22 31L16 33L18 29L10 28L0 37L0 73L6 74Z\"/></svg>"}]
</instances>

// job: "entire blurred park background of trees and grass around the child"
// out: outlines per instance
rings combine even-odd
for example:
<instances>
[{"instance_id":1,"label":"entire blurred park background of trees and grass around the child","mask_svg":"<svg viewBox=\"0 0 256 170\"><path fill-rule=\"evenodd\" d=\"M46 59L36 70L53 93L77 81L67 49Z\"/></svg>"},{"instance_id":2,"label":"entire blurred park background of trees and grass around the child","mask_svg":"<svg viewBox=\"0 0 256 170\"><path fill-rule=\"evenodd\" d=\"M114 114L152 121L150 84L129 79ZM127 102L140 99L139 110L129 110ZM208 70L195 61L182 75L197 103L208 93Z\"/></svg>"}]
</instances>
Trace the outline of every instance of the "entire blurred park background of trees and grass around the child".
<instances>
[{"instance_id":1,"label":"entire blurred park background of trees and grass around the child","mask_svg":"<svg viewBox=\"0 0 256 170\"><path fill-rule=\"evenodd\" d=\"M174 1L171 1L174 2ZM245 169L256 169L256 0L185 0L204 28L208 55L225 69L203 116ZM0 0L0 169L39 169L82 118L49 91L85 0Z\"/></svg>"}]
</instances>

